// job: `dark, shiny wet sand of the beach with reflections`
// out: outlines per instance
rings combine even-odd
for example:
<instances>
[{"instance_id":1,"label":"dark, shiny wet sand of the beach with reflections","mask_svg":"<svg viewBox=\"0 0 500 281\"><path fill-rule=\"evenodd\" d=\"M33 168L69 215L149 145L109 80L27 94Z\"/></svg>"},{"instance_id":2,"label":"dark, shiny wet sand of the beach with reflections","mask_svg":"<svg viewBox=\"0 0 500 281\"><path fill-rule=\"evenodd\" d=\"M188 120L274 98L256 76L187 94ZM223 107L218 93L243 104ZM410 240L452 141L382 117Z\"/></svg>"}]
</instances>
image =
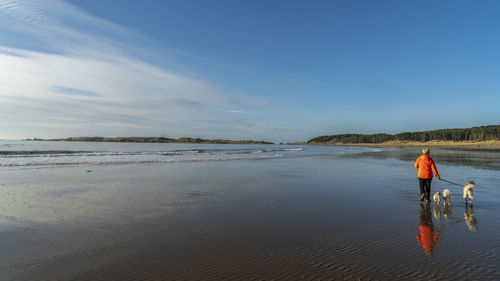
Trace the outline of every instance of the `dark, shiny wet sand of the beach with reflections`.
<instances>
[{"instance_id":1,"label":"dark, shiny wet sand of the beach with reflections","mask_svg":"<svg viewBox=\"0 0 500 281\"><path fill-rule=\"evenodd\" d=\"M494 154L418 201L414 151L0 170L2 280L499 280ZM88 172L90 170L91 172Z\"/></svg>"}]
</instances>

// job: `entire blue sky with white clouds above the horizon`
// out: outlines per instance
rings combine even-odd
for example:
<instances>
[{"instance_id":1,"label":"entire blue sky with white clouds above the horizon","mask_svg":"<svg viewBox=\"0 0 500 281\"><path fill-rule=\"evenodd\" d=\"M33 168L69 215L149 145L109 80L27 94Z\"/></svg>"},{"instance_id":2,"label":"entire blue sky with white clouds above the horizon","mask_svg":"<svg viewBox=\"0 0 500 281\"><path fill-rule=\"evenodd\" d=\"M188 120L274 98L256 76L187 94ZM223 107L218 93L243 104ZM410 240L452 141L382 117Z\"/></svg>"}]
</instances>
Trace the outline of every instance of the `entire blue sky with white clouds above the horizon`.
<instances>
[{"instance_id":1,"label":"entire blue sky with white clouds above the horizon","mask_svg":"<svg viewBox=\"0 0 500 281\"><path fill-rule=\"evenodd\" d=\"M497 1L0 0L0 138L500 124Z\"/></svg>"}]
</instances>

